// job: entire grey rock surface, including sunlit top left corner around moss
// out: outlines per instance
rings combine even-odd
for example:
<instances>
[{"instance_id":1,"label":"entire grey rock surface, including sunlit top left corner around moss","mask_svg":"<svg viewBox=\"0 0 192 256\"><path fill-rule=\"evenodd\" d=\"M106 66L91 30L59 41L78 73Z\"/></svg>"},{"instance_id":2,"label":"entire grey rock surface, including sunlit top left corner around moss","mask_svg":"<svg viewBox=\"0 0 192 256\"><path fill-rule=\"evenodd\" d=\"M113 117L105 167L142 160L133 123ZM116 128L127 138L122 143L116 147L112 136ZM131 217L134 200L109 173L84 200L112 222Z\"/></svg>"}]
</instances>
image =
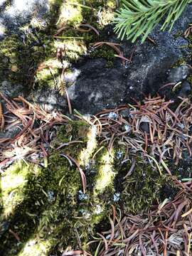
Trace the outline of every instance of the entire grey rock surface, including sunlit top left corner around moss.
<instances>
[{"instance_id":1,"label":"entire grey rock surface, including sunlit top left corner around moss","mask_svg":"<svg viewBox=\"0 0 192 256\"><path fill-rule=\"evenodd\" d=\"M45 14L48 15L49 8L48 0L14 0L9 8L6 7L4 0L0 0L0 27L4 26L9 33L20 33L20 27L31 21L34 13L36 18L46 22L43 17ZM122 65L122 60L117 58L114 60L114 67L107 68L107 60L104 58L92 59L87 55L79 63L74 64L72 70L75 70L75 76L71 73L66 75L72 107L84 114L94 114L106 107L132 102L133 98L138 100L144 95L155 95L159 88L169 81L186 79L190 73L188 68L172 68L179 59L187 58L190 54L189 48L186 47L188 41L182 36L176 37L176 33L185 31L191 20L192 5L188 5L171 33L160 31L161 25L156 26L150 35L156 44L149 40L144 44L139 41L135 44L123 41L120 48L126 58L132 55L136 47L132 63ZM102 41L117 42L112 26L107 26L101 36ZM28 100L43 105L47 110L68 110L65 96L60 96L55 90L36 90L32 87L26 89L26 85L13 85L6 80L0 86L1 92L10 97L19 93ZM183 87L186 88L186 85ZM188 85L186 91L190 93L191 86ZM171 97L170 93L167 97Z\"/></svg>"}]
</instances>

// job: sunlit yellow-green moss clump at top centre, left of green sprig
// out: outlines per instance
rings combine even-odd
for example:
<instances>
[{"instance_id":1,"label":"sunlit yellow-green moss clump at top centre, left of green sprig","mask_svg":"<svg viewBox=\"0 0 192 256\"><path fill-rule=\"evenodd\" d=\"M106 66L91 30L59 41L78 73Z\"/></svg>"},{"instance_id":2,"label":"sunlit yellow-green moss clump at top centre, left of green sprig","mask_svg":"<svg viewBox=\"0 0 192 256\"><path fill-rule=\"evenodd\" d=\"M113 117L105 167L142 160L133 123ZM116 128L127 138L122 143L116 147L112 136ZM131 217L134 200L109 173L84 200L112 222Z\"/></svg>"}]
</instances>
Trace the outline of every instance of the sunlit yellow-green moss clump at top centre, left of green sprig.
<instances>
[{"instance_id":1,"label":"sunlit yellow-green moss clump at top centre, left of green sprig","mask_svg":"<svg viewBox=\"0 0 192 256\"><path fill-rule=\"evenodd\" d=\"M65 44L65 55L70 60L78 60L81 55L87 53L90 43L100 40L101 37L99 36L98 38L95 31L79 25L81 23L88 23L100 31L112 21L115 7L116 1L112 0L107 2L93 0L86 3L85 6L79 0L65 2L65 5L60 9L60 17L57 22L58 28L65 26L65 29L59 33L60 38L58 40ZM70 40L68 37L70 37ZM74 46L71 46L72 44ZM81 49L79 45L82 46ZM110 55L110 50L107 50L107 54L105 50L102 51L102 54L95 51L95 57L100 58L101 55L102 58L106 57L109 60L108 66L110 67L113 59L112 54Z\"/></svg>"}]
</instances>

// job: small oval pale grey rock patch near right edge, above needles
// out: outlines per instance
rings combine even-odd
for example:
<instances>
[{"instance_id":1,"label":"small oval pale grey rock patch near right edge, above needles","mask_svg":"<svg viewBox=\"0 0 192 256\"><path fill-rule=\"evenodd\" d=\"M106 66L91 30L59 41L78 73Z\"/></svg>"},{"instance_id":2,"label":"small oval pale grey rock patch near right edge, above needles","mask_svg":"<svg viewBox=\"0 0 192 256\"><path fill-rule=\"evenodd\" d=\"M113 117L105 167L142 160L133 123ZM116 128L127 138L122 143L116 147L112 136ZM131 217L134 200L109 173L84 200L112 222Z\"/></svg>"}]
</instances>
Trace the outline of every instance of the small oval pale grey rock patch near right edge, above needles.
<instances>
[{"instance_id":1,"label":"small oval pale grey rock patch near right edge, above needles","mask_svg":"<svg viewBox=\"0 0 192 256\"><path fill-rule=\"evenodd\" d=\"M180 82L185 80L192 73L192 68L188 65L180 65L171 69L168 77L169 82Z\"/></svg>"}]
</instances>

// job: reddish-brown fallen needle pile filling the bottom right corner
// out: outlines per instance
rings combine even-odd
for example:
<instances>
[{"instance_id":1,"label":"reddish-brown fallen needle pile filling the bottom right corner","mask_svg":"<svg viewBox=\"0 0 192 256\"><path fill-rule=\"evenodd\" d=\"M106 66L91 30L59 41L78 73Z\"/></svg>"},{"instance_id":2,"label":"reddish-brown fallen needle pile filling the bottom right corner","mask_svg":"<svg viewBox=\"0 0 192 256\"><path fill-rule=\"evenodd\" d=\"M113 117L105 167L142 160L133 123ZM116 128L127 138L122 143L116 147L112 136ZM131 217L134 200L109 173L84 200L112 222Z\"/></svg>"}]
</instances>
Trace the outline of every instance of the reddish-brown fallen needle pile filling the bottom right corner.
<instances>
[{"instance_id":1,"label":"reddish-brown fallen needle pile filling the bottom right corner","mask_svg":"<svg viewBox=\"0 0 192 256\"><path fill-rule=\"evenodd\" d=\"M117 218L113 206L111 229L102 232L96 255L191 255L192 194L180 191L174 201L165 200L149 214Z\"/></svg>"}]
</instances>

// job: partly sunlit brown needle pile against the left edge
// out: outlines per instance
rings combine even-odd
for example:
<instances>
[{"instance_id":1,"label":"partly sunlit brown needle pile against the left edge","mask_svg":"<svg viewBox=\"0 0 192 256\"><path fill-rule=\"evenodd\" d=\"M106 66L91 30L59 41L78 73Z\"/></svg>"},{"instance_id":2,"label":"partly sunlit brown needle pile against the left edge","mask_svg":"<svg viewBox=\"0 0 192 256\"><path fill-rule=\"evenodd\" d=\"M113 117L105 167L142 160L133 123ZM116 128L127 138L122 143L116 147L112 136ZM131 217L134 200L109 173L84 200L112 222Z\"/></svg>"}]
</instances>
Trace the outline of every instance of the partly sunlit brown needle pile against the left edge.
<instances>
[{"instance_id":1,"label":"partly sunlit brown needle pile against the left edge","mask_svg":"<svg viewBox=\"0 0 192 256\"><path fill-rule=\"evenodd\" d=\"M14 137L0 138L0 167L17 159L28 159L34 163L45 160L49 143L55 136L53 128L67 123L68 117L59 112L48 113L21 96L14 100L9 100L1 92L0 96L6 102L6 110L0 112L1 129L18 129Z\"/></svg>"}]
</instances>

